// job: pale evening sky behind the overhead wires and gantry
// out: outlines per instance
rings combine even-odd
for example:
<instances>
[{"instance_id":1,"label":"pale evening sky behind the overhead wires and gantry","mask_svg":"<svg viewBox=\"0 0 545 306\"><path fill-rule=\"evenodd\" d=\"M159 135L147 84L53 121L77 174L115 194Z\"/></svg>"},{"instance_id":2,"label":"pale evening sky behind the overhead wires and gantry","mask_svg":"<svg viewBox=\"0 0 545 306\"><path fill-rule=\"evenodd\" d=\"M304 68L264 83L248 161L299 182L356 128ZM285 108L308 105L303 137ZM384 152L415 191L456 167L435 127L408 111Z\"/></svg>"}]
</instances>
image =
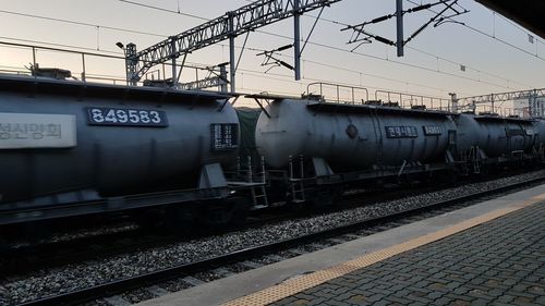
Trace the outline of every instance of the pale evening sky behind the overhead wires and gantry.
<instances>
[{"instance_id":1,"label":"pale evening sky behind the overhead wires and gantry","mask_svg":"<svg viewBox=\"0 0 545 306\"><path fill-rule=\"evenodd\" d=\"M419 3L432 1L412 0ZM185 14L209 20L249 3L243 0L134 2L172 12L119 0L0 0L0 41L70 46L72 49L83 48L81 50L122 56L121 50L116 47L117 41L124 45L135 42L138 50L142 50L169 35L179 34L204 22ZM238 91L300 95L306 91L308 83L318 81L443 98L448 98L448 93L465 97L545 87L544 40L473 0L459 1L470 12L456 20L467 26L457 23L429 26L408 44L403 58L396 57L395 47L376 41L362 45L350 52L355 45L347 45L351 33L340 30L344 27L343 24L359 24L393 13L395 3L393 0L343 0L326 8L322 14L323 20L317 23L302 54L303 79L300 82L295 82L292 72L284 68L274 68L265 74L267 68L259 65L263 58L256 57L262 50L291 44L292 40L284 37L292 37L293 20L284 20L251 33L237 74ZM404 5L405 9L414 7L409 1L404 1ZM175 13L179 9L183 14ZM315 21L313 16L317 14L318 11L313 11L302 17L303 37L308 34ZM433 13L428 11L407 14L405 37L431 17ZM396 23L392 19L380 25L371 25L367 30L395 39ZM533 44L530 42L529 35L534 37ZM244 38L245 36L237 38L237 58ZM292 50L279 54L289 63L293 61L292 56ZM186 61L191 64L215 65L228 60L228 41L222 41L189 54ZM0 70L21 69L29 62L32 52L28 49L0 45ZM37 62L40 66L69 69L75 76L82 72L81 57L76 54L39 50ZM461 70L461 65L465 66L465 71ZM122 60L86 58L86 71L90 75L123 78L124 63ZM204 77L206 74L201 72L199 76ZM194 79L194 70L183 71L183 82Z\"/></svg>"}]
</instances>

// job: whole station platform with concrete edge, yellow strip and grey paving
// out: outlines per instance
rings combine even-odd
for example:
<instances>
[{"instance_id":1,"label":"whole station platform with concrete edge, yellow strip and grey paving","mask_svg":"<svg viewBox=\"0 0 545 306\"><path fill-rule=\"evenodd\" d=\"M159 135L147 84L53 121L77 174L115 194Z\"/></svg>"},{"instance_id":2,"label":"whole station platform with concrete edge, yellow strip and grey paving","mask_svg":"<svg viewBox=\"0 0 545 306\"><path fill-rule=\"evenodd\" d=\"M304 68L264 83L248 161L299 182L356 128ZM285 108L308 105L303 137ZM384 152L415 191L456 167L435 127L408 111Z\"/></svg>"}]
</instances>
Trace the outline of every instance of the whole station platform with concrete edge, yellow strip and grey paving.
<instances>
[{"instance_id":1,"label":"whole station platform with concrete edge, yellow strip and grey paving","mask_svg":"<svg viewBox=\"0 0 545 306\"><path fill-rule=\"evenodd\" d=\"M541 185L138 305L545 305L544 200Z\"/></svg>"}]
</instances>

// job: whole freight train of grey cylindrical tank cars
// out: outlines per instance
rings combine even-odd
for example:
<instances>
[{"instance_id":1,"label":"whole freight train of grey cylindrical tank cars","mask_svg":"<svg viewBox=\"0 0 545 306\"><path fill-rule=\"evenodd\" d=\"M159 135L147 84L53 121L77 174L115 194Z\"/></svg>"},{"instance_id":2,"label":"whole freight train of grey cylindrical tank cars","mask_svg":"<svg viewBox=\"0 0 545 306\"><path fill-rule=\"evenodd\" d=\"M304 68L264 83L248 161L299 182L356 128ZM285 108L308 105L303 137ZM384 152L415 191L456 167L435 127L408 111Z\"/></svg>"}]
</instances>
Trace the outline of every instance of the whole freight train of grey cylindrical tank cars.
<instances>
[{"instance_id":1,"label":"whole freight train of grey cylindrical tank cars","mask_svg":"<svg viewBox=\"0 0 545 306\"><path fill-rule=\"evenodd\" d=\"M249 95L261 108L244 109L232 98L1 75L0 229L114 211L222 223L377 182L543 160L541 120L322 96Z\"/></svg>"}]
</instances>

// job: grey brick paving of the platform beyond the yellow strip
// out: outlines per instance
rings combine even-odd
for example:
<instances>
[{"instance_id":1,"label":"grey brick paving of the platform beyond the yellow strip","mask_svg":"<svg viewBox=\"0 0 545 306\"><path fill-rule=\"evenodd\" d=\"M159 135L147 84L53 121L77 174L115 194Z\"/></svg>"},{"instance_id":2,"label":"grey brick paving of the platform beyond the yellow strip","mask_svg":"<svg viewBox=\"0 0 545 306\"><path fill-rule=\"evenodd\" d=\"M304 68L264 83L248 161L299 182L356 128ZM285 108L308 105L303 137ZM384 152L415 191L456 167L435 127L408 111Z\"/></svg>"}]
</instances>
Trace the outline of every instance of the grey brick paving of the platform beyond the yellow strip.
<instances>
[{"instance_id":1,"label":"grey brick paving of the platform beyond the yellow strip","mask_svg":"<svg viewBox=\"0 0 545 306\"><path fill-rule=\"evenodd\" d=\"M545 204L271 305L545 305Z\"/></svg>"}]
</instances>

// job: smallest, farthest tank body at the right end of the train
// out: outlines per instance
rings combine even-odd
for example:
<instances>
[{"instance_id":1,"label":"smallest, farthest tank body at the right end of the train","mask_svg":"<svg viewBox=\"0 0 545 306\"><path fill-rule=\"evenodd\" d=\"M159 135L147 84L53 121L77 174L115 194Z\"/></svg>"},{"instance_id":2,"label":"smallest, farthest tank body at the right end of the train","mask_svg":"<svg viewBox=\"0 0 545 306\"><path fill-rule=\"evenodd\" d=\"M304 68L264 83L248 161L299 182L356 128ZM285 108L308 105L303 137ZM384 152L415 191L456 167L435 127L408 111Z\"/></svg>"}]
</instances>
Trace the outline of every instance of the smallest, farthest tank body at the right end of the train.
<instances>
[{"instance_id":1,"label":"smallest, farthest tank body at the right end of the train","mask_svg":"<svg viewBox=\"0 0 545 306\"><path fill-rule=\"evenodd\" d=\"M460 114L457 146L460 151L481 148L488 157L528 150L535 142L536 128L529 120L509 120L497 117Z\"/></svg>"}]
</instances>

